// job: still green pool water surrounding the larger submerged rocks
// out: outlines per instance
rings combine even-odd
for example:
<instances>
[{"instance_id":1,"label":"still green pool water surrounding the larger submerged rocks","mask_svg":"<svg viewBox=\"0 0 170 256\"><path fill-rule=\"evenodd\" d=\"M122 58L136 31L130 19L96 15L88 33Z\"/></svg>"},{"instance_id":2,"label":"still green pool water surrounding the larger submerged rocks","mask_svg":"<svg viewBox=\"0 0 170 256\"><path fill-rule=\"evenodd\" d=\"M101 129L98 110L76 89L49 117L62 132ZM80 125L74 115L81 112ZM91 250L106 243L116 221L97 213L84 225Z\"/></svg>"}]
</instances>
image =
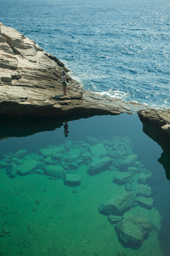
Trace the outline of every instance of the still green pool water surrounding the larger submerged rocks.
<instances>
[{"instance_id":1,"label":"still green pool water surrounding the larger submerged rocks","mask_svg":"<svg viewBox=\"0 0 170 256\"><path fill-rule=\"evenodd\" d=\"M3 161L0 167L1 255L170 255L170 183L157 161L162 153L161 147L142 129L137 114L95 116L68 122L67 138L62 126L55 131L0 141L0 159ZM93 162L92 141L97 145L102 143L106 149L107 154L100 158L111 157L109 150L116 155L95 173L89 168ZM64 148L60 152L63 158L57 158L57 163L50 162L42 153L44 151L39 151L59 148ZM17 174L16 178L9 178L4 162L8 164L13 154L20 150L27 150L26 155L19 159L22 163L36 160L40 155L43 158L30 174ZM76 150L79 152L76 162L68 162L70 152ZM117 184L113 178L120 172L120 163L130 154L136 154L136 162L140 162L133 162L131 166L140 168L140 172L148 177L141 182L140 172L131 172L133 178L129 184L132 184L132 192L136 194L142 183L151 187L152 195L149 197L153 199L152 208L135 204L123 214L123 218L140 216L152 225L149 236L138 247L135 244L123 245L115 231L116 224L111 224L108 217L98 211L104 200L119 192L126 192L126 184ZM22 163L17 164L17 168ZM63 178L44 173L47 166L55 165L64 168L65 173L79 174L81 184L68 186ZM42 174L35 171L37 168L42 170Z\"/></svg>"}]
</instances>

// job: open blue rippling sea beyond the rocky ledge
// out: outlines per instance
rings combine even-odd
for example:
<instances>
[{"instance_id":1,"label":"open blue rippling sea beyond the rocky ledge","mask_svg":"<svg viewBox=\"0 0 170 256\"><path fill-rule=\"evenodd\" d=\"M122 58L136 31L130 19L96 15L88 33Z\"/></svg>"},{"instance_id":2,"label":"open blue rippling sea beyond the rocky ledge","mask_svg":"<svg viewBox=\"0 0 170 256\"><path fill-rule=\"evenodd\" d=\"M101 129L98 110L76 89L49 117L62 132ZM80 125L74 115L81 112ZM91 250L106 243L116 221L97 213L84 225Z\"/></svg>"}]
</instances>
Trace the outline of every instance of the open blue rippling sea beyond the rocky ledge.
<instances>
[{"instance_id":1,"label":"open blue rippling sea beyond the rocky ledge","mask_svg":"<svg viewBox=\"0 0 170 256\"><path fill-rule=\"evenodd\" d=\"M0 21L63 61L84 89L170 107L168 1L0 4Z\"/></svg>"}]
</instances>

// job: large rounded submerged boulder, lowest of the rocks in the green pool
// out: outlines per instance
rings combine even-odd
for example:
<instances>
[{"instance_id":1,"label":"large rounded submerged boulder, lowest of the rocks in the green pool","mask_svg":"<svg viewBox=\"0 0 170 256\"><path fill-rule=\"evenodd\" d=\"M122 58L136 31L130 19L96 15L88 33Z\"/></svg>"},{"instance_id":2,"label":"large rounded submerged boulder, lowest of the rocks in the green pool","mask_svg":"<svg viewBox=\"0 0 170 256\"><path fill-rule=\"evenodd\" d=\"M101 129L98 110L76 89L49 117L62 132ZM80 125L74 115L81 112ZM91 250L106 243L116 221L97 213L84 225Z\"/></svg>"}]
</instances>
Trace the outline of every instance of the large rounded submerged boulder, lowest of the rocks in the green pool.
<instances>
[{"instance_id":1,"label":"large rounded submerged boulder, lowest of the rocks in the green pool","mask_svg":"<svg viewBox=\"0 0 170 256\"><path fill-rule=\"evenodd\" d=\"M129 216L115 225L116 232L123 244L141 245L144 235L151 231L149 222L138 216Z\"/></svg>"}]
</instances>

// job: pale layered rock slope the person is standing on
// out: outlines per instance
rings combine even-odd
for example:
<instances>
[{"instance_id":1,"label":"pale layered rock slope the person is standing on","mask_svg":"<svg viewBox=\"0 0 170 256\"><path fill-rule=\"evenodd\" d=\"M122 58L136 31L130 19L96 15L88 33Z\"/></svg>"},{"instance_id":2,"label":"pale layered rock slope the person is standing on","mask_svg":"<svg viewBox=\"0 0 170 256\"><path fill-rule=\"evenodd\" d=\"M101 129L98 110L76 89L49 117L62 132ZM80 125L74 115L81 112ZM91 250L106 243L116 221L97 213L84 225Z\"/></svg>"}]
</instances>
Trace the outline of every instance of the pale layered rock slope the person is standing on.
<instances>
[{"instance_id":1,"label":"pale layered rock slope the person is standing on","mask_svg":"<svg viewBox=\"0 0 170 256\"><path fill-rule=\"evenodd\" d=\"M61 75L69 70L35 41L0 23L0 114L59 116L81 111L81 115L120 114L133 104L85 92L67 75L63 96ZM86 113L84 113L86 112Z\"/></svg>"}]
</instances>

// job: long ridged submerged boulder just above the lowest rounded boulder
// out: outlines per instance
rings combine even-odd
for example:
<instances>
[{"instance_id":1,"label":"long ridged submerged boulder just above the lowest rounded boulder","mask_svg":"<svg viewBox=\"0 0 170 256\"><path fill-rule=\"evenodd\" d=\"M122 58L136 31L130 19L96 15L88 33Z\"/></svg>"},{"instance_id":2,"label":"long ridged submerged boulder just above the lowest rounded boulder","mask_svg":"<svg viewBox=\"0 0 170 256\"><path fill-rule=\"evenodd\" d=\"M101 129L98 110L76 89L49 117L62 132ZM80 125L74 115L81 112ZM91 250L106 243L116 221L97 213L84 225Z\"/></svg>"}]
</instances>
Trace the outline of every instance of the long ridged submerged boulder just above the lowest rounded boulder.
<instances>
[{"instance_id":1,"label":"long ridged submerged boulder just above the lowest rounded boulder","mask_svg":"<svg viewBox=\"0 0 170 256\"><path fill-rule=\"evenodd\" d=\"M135 203L132 192L118 193L106 199L100 206L99 212L105 215L122 215Z\"/></svg>"}]
</instances>

